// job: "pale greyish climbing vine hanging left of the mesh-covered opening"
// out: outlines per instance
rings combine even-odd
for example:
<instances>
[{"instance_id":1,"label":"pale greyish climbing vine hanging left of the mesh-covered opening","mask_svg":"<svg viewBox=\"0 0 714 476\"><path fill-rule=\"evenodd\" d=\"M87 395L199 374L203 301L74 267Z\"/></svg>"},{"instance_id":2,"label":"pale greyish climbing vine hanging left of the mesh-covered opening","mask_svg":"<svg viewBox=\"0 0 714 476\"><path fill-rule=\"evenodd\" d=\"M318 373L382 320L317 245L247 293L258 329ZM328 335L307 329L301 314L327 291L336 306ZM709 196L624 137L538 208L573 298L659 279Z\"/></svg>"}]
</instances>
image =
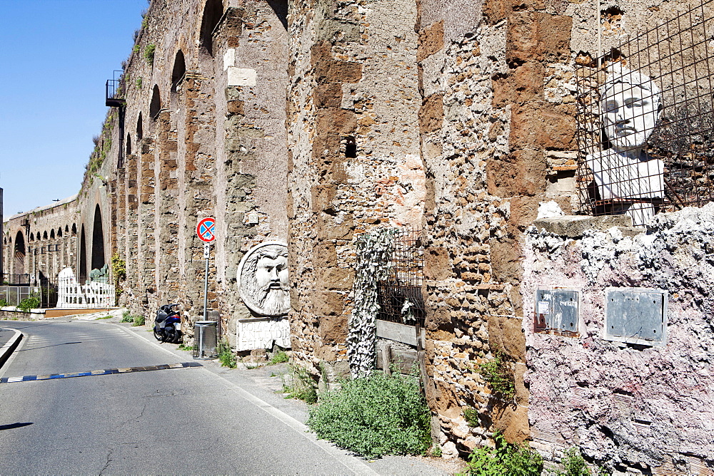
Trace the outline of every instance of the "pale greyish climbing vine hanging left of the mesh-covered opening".
<instances>
[{"instance_id":1,"label":"pale greyish climbing vine hanging left of the mesh-covered opening","mask_svg":"<svg viewBox=\"0 0 714 476\"><path fill-rule=\"evenodd\" d=\"M347 336L347 356L353 377L368 376L376 357L377 284L389 276L396 229L361 234L356 239L354 306Z\"/></svg>"}]
</instances>

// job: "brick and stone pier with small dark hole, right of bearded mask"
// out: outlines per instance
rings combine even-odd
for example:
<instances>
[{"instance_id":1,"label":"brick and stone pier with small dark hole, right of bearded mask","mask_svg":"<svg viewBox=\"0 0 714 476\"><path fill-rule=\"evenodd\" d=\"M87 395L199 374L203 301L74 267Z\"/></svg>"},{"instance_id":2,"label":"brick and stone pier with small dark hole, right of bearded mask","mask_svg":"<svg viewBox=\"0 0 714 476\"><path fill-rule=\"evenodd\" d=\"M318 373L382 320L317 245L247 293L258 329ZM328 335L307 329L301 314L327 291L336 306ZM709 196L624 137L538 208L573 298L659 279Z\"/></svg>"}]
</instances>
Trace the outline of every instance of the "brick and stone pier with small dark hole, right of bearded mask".
<instances>
[{"instance_id":1,"label":"brick and stone pier with small dark hole, right of bearded mask","mask_svg":"<svg viewBox=\"0 0 714 476\"><path fill-rule=\"evenodd\" d=\"M288 217L293 351L345 374L353 240L423 210L410 1L291 3Z\"/></svg>"}]
</instances>

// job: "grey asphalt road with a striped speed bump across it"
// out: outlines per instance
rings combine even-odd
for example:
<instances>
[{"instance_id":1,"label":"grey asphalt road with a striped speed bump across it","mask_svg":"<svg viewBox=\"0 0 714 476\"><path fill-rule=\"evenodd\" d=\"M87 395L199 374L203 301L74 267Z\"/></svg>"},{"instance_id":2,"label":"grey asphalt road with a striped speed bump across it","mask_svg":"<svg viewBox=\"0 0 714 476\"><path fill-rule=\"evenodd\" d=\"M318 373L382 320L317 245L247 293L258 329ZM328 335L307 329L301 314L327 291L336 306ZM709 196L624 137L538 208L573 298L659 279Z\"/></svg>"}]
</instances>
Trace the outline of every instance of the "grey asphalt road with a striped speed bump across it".
<instances>
[{"instance_id":1,"label":"grey asphalt road with a striped speed bump across it","mask_svg":"<svg viewBox=\"0 0 714 476\"><path fill-rule=\"evenodd\" d=\"M101 321L0 326L25 335L0 369L0 474L375 474L306 433L280 398L268 403L202 361L171 368L190 359L149 333Z\"/></svg>"}]
</instances>

